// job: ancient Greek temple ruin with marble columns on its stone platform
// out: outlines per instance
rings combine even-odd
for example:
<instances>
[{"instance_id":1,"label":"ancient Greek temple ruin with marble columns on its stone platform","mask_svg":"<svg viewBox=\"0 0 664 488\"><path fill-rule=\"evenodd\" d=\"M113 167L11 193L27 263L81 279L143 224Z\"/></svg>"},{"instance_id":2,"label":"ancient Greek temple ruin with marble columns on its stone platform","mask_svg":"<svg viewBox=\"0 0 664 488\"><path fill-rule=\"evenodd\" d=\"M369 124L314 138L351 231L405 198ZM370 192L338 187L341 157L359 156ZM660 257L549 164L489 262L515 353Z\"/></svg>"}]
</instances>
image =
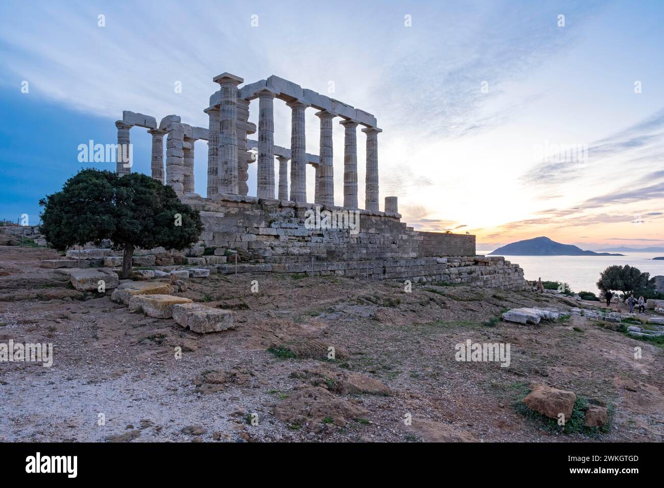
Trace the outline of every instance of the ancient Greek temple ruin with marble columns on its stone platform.
<instances>
[{"instance_id":1,"label":"ancient Greek temple ruin with marble columns on its stone platform","mask_svg":"<svg viewBox=\"0 0 664 488\"><path fill-rule=\"evenodd\" d=\"M201 211L205 226L202 246L241 250L241 270L246 271L525 287L523 270L518 265L498 256L475 256L475 236L416 231L401 222L394 196L385 197L380 210L378 134L382 130L369 112L278 76L244 84L239 76L222 73L213 81L220 90L210 96L204 110L209 119L207 129L183 123L175 115L164 117L157 125L152 116L123 112L122 120L116 122L119 148L129 144L131 127L145 127L151 133L151 176L171 186L183 202ZM286 102L291 110L290 148L274 145L275 99ZM248 122L253 100L258 100L258 127ZM318 155L305 151L307 108L317 110L320 119ZM335 206L334 201L332 124L336 118L345 129L343 206ZM357 197L359 126L365 134L364 208ZM257 129L258 140L249 139ZM194 191L197 140L205 140L208 145L206 197ZM254 162L256 197L250 197L248 167ZM315 168L313 199L306 192L307 164ZM125 164L118 157L118 174L130 171L131 162ZM336 225L335 217L339 215L345 225ZM349 225L355 216L357 224ZM216 266L218 272L228 271L224 266L230 265L212 259L215 257L210 256L206 264Z\"/></svg>"}]
</instances>

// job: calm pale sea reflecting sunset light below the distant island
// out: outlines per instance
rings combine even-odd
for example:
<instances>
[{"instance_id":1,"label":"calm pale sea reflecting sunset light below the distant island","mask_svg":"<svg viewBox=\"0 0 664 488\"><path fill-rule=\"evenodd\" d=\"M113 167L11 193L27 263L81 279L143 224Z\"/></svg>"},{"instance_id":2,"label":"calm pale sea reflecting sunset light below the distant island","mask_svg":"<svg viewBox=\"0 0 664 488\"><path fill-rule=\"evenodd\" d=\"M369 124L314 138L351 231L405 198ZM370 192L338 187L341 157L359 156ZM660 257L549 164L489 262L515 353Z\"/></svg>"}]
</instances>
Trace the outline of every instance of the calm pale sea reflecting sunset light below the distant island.
<instances>
[{"instance_id":1,"label":"calm pale sea reflecting sunset light below the distant island","mask_svg":"<svg viewBox=\"0 0 664 488\"><path fill-rule=\"evenodd\" d=\"M491 250L478 250L477 254L489 254ZM600 273L608 266L629 264L641 272L650 273L650 277L664 276L664 260L653 258L664 256L664 252L621 252L625 256L507 256L505 259L519 264L523 268L526 280L564 282L572 291L592 291L600 293L597 282Z\"/></svg>"}]
</instances>

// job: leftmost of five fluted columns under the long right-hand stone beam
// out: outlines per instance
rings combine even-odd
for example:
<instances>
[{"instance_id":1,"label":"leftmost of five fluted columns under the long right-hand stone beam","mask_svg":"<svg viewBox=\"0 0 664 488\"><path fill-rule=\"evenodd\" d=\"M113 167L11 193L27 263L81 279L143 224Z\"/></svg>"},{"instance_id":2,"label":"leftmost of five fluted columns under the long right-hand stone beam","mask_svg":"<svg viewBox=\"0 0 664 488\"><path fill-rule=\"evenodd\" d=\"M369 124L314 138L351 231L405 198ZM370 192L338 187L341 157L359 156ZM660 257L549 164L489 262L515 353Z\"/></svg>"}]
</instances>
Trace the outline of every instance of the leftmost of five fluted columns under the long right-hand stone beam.
<instances>
[{"instance_id":1,"label":"leftmost of five fluted columns under the long right-hand stone beam","mask_svg":"<svg viewBox=\"0 0 664 488\"><path fill-rule=\"evenodd\" d=\"M258 168L256 197L274 199L274 96L258 92Z\"/></svg>"}]
</instances>

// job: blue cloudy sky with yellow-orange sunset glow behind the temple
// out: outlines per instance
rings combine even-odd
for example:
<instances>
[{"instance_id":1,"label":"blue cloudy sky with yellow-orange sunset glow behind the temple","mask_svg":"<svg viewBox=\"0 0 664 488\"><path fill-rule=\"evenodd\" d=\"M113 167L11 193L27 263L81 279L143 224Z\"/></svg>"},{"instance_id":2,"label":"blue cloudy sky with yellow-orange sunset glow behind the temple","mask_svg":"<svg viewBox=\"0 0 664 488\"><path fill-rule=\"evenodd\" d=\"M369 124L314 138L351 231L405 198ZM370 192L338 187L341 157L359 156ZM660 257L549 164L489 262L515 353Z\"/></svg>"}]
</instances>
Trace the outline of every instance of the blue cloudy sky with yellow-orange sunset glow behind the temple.
<instances>
[{"instance_id":1,"label":"blue cloudy sky with yellow-orange sunset glow behind the temple","mask_svg":"<svg viewBox=\"0 0 664 488\"><path fill-rule=\"evenodd\" d=\"M662 25L661 1L5 0L0 218L36 224L39 199L68 177L114 169L81 163L78 146L116 143L123 110L207 127L212 78L230 72L246 83L276 74L374 114L381 209L398 197L418 230L469 232L487 250L537 236L664 246ZM290 147L290 108L274 106L274 141ZM363 202L359 131L357 141ZM133 127L131 143L132 170L149 174L151 136ZM256 195L255 164L248 185ZM199 141L195 189L206 187Z\"/></svg>"}]
</instances>

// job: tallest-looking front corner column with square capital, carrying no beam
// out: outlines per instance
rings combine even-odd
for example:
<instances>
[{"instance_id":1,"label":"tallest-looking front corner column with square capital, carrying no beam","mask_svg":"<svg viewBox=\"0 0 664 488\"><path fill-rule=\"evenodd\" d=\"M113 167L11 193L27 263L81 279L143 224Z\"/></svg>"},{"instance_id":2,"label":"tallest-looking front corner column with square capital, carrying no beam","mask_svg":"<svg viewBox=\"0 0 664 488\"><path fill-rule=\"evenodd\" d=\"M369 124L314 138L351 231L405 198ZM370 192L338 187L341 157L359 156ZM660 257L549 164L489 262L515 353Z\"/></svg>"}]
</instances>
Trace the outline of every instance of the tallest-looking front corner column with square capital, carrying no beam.
<instances>
[{"instance_id":1,"label":"tallest-looking front corner column with square capital, carrying no beam","mask_svg":"<svg viewBox=\"0 0 664 488\"><path fill-rule=\"evenodd\" d=\"M230 73L213 78L221 87L219 108L219 177L217 193L238 195L238 85L244 80Z\"/></svg>"}]
</instances>

